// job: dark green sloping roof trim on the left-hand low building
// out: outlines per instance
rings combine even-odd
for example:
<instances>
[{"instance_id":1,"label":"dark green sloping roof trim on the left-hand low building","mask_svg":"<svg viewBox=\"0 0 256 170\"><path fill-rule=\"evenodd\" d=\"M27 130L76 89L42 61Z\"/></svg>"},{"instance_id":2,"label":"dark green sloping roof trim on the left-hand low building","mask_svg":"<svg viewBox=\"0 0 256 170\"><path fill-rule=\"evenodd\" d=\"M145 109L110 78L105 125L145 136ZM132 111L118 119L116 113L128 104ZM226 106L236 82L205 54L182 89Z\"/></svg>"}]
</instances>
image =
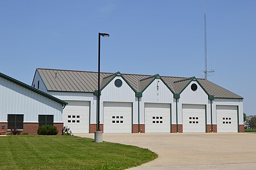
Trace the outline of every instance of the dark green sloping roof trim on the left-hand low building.
<instances>
[{"instance_id":1,"label":"dark green sloping roof trim on the left-hand low building","mask_svg":"<svg viewBox=\"0 0 256 170\"><path fill-rule=\"evenodd\" d=\"M53 96L51 96L51 95L49 95L49 94L47 94L47 93L44 93L44 92L42 92L42 91L40 91L40 90L38 90L38 89L36 89L36 88L31 87L30 85L24 84L23 82L18 81L18 80L14 79L14 78L11 78L11 77L9 77L9 76L3 74L3 73L0 73L0 77L5 78L6 80L9 80L9 81L11 81L11 82L14 82L15 84L18 84L18 85L22 86L23 88L26 88L26 89L28 89L28 90L31 90L32 92L38 93L38 94L40 94L40 95L42 95L42 96L44 96L44 97L47 97L47 98L49 98L49 99L52 99L53 101L55 101L55 102L57 102L57 103L60 103L62 106L68 105L67 102L62 101L62 100L59 99L59 98L56 98L56 97L53 97Z\"/></svg>"}]
</instances>

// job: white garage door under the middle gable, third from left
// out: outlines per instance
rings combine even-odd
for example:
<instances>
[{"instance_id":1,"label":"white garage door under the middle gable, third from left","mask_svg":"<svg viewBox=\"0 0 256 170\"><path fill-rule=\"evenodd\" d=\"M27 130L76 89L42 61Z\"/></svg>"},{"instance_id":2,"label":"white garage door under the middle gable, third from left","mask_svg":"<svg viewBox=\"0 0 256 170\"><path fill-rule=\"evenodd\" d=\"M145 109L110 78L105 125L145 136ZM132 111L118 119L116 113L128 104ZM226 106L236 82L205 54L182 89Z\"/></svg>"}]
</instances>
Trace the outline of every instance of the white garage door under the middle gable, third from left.
<instances>
[{"instance_id":1,"label":"white garage door under the middle gable, third from left","mask_svg":"<svg viewBox=\"0 0 256 170\"><path fill-rule=\"evenodd\" d=\"M171 132L171 104L145 103L145 132Z\"/></svg>"}]
</instances>

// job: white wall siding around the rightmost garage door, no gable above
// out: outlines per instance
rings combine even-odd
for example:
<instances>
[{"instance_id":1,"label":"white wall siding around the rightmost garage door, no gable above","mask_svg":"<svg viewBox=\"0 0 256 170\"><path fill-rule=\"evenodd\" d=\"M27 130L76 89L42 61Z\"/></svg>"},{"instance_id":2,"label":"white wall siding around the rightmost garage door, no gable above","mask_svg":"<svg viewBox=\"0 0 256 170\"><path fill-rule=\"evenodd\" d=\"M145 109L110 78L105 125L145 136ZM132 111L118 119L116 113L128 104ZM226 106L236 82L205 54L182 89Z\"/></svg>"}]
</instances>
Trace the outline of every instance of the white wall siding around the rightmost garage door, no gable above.
<instances>
[{"instance_id":1,"label":"white wall siding around the rightmost garage door, no gable above","mask_svg":"<svg viewBox=\"0 0 256 170\"><path fill-rule=\"evenodd\" d=\"M239 124L243 125L243 99L226 99L226 98L216 98L213 100L213 120L216 124L217 113L216 105L232 105L238 106L239 108Z\"/></svg>"}]
</instances>

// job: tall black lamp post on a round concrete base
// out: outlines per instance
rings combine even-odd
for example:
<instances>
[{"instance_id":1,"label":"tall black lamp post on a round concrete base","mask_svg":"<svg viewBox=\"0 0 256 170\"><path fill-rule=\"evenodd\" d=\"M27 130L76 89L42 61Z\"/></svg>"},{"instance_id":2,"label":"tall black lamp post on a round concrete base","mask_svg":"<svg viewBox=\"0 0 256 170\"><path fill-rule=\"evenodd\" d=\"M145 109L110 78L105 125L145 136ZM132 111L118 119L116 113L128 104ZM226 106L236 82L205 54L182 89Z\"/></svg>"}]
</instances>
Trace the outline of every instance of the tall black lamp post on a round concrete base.
<instances>
[{"instance_id":1,"label":"tall black lamp post on a round concrete base","mask_svg":"<svg viewBox=\"0 0 256 170\"><path fill-rule=\"evenodd\" d=\"M97 95L97 131L94 132L94 141L96 143L102 142L102 131L100 130L100 69L101 69L101 36L109 37L109 34L98 33L98 95Z\"/></svg>"}]
</instances>

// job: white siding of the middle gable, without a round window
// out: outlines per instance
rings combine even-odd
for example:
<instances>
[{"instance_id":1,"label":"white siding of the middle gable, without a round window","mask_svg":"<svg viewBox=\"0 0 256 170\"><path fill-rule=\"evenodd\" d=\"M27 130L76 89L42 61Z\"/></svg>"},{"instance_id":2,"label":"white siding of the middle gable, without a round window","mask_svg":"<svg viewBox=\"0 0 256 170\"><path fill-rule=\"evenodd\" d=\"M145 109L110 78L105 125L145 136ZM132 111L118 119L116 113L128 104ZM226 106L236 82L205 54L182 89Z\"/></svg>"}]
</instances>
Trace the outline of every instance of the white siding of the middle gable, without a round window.
<instances>
[{"instance_id":1,"label":"white siding of the middle gable, without a round window","mask_svg":"<svg viewBox=\"0 0 256 170\"><path fill-rule=\"evenodd\" d=\"M144 103L174 103L174 94L160 78L156 78L142 94L140 105L141 123L145 123ZM176 105L172 105L172 112L176 111L175 107ZM176 123L176 114L172 114L172 122Z\"/></svg>"}]
</instances>

